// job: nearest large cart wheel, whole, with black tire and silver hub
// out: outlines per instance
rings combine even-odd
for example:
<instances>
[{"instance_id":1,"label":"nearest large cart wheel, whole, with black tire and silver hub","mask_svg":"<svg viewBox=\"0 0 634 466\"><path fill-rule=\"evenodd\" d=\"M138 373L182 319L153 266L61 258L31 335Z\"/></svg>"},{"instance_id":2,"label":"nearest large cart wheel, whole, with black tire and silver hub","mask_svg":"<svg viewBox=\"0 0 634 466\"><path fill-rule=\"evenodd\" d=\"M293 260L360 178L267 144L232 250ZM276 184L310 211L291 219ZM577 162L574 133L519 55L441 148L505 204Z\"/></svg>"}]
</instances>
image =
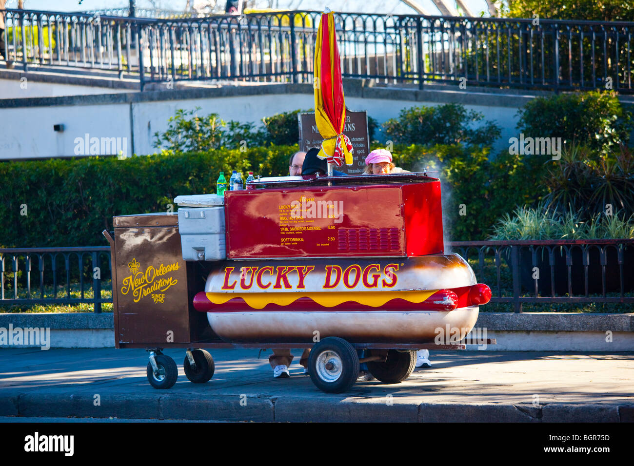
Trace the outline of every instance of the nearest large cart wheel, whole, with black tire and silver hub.
<instances>
[{"instance_id":1,"label":"nearest large cart wheel, whole, with black tire and silver hub","mask_svg":"<svg viewBox=\"0 0 634 466\"><path fill-rule=\"evenodd\" d=\"M313 346L308 368L318 389L341 393L349 390L359 377L359 358L346 340L328 337Z\"/></svg>"}]
</instances>

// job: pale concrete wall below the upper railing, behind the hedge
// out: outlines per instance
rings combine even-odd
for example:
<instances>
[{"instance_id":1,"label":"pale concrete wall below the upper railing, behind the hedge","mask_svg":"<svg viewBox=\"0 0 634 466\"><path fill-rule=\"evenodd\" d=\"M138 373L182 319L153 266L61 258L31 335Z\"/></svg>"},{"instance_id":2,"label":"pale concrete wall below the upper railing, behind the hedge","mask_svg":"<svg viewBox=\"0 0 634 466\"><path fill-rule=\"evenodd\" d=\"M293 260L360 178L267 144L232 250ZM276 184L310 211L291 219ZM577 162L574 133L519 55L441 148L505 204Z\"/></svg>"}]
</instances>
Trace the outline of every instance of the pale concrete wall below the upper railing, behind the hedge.
<instances>
[{"instance_id":1,"label":"pale concrete wall below the upper railing, behind the hedge","mask_svg":"<svg viewBox=\"0 0 634 466\"><path fill-rule=\"evenodd\" d=\"M517 108L533 97L461 93L448 91L446 87L425 91L373 88L363 86L360 81L346 82L347 107L367 110L379 123L398 116L402 108L463 103L501 126L496 150L508 147L508 138L516 134ZM313 105L313 88L307 84L7 99L0 101L0 127L3 127L0 159L72 157L75 139L84 138L86 133L90 138L127 138L128 154L145 155L156 152L152 146L153 134L167 128L167 120L178 108L201 107L200 114L219 113L224 120L260 122L262 117ZM53 124L63 124L63 133L53 131Z\"/></svg>"}]
</instances>

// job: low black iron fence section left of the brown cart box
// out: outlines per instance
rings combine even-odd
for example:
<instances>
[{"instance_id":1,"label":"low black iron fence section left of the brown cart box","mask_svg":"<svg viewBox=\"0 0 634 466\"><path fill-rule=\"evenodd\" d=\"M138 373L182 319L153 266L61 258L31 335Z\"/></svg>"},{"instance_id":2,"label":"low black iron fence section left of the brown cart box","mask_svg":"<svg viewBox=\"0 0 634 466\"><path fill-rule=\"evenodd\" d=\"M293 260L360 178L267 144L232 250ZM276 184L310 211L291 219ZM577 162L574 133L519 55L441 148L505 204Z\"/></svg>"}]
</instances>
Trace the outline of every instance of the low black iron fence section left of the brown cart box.
<instances>
[{"instance_id":1,"label":"low black iron fence section left of the brown cart box","mask_svg":"<svg viewBox=\"0 0 634 466\"><path fill-rule=\"evenodd\" d=\"M0 249L0 306L87 302L101 313L110 276L108 246Z\"/></svg>"}]
</instances>

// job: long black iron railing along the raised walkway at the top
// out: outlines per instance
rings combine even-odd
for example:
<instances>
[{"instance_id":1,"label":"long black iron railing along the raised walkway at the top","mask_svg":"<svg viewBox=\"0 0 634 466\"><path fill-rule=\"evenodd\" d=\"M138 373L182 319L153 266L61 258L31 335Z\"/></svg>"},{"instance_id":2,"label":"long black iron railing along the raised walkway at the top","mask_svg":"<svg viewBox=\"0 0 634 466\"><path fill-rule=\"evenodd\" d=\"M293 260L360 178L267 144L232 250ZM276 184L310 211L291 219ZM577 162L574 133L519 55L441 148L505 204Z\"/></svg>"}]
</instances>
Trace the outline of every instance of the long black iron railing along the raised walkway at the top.
<instances>
[{"instance_id":1,"label":"long black iron railing along the raised walkway at the top","mask_svg":"<svg viewBox=\"0 0 634 466\"><path fill-rule=\"evenodd\" d=\"M113 11L113 13L116 13ZM312 82L320 12L204 18L6 10L9 60L175 81ZM344 77L632 92L633 22L337 13Z\"/></svg>"}]
</instances>

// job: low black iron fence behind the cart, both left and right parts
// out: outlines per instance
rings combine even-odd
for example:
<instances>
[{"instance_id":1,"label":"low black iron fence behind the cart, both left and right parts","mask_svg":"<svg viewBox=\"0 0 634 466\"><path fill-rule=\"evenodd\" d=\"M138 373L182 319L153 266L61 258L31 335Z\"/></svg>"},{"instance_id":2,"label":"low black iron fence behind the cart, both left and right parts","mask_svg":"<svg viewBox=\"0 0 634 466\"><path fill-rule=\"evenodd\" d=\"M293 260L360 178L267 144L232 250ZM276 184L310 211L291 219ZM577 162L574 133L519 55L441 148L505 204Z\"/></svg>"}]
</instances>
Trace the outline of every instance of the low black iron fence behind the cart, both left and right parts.
<instances>
[{"instance_id":1,"label":"low black iron fence behind the cart, both left and right parts","mask_svg":"<svg viewBox=\"0 0 634 466\"><path fill-rule=\"evenodd\" d=\"M634 303L634 240L450 242L470 262L491 302L516 313L533 303ZM94 303L110 288L109 247L0 249L0 306ZM91 284L92 283L92 284Z\"/></svg>"}]
</instances>

